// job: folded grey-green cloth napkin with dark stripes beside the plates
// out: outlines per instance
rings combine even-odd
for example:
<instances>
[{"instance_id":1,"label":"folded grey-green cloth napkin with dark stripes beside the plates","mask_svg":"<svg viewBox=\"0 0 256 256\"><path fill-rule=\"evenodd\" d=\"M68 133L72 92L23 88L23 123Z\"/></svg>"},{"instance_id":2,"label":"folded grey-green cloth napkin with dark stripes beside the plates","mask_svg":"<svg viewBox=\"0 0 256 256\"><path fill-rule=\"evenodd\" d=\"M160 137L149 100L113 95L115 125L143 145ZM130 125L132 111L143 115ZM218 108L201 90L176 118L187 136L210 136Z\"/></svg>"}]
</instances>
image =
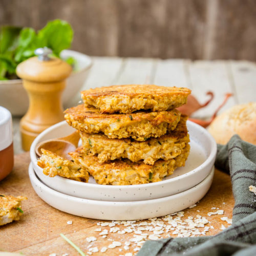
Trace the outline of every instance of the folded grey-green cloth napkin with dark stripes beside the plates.
<instances>
[{"instance_id":1,"label":"folded grey-green cloth napkin with dark stripes beside the plates","mask_svg":"<svg viewBox=\"0 0 256 256\"><path fill-rule=\"evenodd\" d=\"M230 174L234 195L232 225L215 236L146 241L137 256L256 255L256 146L234 135L218 145L215 165Z\"/></svg>"}]
</instances>

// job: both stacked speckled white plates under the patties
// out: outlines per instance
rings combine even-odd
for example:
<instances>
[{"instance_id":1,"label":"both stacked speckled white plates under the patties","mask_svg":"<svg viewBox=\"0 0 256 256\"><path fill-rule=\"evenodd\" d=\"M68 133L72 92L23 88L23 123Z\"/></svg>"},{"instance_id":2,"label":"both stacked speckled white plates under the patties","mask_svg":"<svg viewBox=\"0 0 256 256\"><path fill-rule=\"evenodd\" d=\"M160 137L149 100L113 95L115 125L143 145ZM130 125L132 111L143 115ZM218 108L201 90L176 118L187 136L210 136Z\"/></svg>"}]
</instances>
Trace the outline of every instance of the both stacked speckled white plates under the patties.
<instances>
[{"instance_id":1,"label":"both stacked speckled white plates under the patties","mask_svg":"<svg viewBox=\"0 0 256 256\"><path fill-rule=\"evenodd\" d=\"M48 177L37 165L35 146L44 140L64 137L74 129L66 121L42 132L30 150L30 181L37 195L69 214L101 220L138 220L172 214L198 202L214 177L216 142L201 126L187 121L190 154L184 167L163 181L141 185L100 185L56 176Z\"/></svg>"}]
</instances>

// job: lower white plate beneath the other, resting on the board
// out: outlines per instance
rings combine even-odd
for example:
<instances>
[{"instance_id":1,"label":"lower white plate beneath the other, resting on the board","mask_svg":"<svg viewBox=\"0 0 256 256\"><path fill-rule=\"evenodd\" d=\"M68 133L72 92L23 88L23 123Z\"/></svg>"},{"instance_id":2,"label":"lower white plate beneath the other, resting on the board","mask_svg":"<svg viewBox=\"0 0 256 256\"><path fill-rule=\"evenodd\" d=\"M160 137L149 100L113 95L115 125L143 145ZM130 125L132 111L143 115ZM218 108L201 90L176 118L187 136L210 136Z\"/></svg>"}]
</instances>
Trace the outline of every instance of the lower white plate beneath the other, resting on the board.
<instances>
[{"instance_id":1,"label":"lower white plate beneath the other, resting on the board","mask_svg":"<svg viewBox=\"0 0 256 256\"><path fill-rule=\"evenodd\" d=\"M29 166L29 177L36 194L46 203L61 211L99 220L142 220L173 214L198 202L210 188L214 168L201 183L182 193L134 202L97 201L59 193L38 179L32 164Z\"/></svg>"}]
</instances>

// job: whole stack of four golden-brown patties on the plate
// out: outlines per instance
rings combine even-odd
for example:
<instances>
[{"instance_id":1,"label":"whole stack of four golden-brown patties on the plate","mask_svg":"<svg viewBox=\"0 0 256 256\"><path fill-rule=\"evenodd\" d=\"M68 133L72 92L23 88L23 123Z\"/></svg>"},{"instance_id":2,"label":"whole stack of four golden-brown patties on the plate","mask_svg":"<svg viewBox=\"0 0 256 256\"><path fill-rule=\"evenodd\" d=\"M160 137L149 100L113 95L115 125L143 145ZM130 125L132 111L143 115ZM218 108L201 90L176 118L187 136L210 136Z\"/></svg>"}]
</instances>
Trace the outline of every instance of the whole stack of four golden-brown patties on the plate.
<instances>
[{"instance_id":1,"label":"whole stack of four golden-brown patties on the plate","mask_svg":"<svg viewBox=\"0 0 256 256\"><path fill-rule=\"evenodd\" d=\"M190 90L154 85L82 91L84 104L66 110L82 146L70 155L99 184L161 181L189 154L186 117L175 108Z\"/></svg>"}]
</instances>

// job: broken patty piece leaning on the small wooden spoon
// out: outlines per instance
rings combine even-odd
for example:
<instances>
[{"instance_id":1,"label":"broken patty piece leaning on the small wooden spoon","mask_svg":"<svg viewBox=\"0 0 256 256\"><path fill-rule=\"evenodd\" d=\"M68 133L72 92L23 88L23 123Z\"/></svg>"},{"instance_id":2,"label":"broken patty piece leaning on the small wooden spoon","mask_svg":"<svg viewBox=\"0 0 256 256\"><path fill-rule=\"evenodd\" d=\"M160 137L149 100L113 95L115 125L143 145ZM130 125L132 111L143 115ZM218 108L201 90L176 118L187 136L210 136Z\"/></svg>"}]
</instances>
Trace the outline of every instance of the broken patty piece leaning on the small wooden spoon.
<instances>
[{"instance_id":1,"label":"broken patty piece leaning on the small wooden spoon","mask_svg":"<svg viewBox=\"0 0 256 256\"><path fill-rule=\"evenodd\" d=\"M84 170L75 159L65 159L44 148L41 148L41 152L42 156L38 159L37 165L43 168L45 175L50 177L58 175L71 180L88 182L87 170Z\"/></svg>"}]
</instances>

